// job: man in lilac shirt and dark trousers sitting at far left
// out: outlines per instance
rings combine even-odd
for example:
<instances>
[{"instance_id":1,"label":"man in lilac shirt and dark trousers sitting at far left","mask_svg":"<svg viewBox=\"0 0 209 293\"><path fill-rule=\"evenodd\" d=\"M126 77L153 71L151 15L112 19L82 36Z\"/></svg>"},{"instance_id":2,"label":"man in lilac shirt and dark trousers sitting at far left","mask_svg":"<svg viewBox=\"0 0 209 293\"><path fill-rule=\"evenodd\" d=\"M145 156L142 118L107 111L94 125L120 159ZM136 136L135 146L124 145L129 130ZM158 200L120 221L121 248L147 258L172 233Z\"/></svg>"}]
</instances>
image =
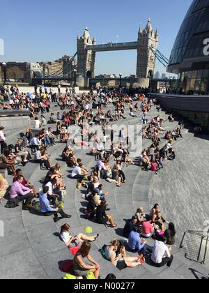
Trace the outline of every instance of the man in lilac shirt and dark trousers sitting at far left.
<instances>
[{"instance_id":1,"label":"man in lilac shirt and dark trousers sitting at far left","mask_svg":"<svg viewBox=\"0 0 209 293\"><path fill-rule=\"evenodd\" d=\"M16 198L22 202L22 209L24 211L29 210L31 207L31 201L33 200L33 190L22 185L23 176L17 176L17 181L15 181L10 190L10 198Z\"/></svg>"}]
</instances>

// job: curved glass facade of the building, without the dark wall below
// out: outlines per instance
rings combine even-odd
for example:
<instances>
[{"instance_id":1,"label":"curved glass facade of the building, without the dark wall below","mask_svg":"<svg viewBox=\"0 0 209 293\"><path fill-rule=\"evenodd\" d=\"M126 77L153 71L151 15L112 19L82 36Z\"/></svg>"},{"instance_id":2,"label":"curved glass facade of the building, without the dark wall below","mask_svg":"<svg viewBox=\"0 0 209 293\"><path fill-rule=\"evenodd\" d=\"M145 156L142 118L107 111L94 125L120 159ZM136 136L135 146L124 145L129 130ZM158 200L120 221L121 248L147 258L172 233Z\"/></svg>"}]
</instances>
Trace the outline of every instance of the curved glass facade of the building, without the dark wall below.
<instances>
[{"instance_id":1,"label":"curved glass facade of the building, without the dark wall below","mask_svg":"<svg viewBox=\"0 0 209 293\"><path fill-rule=\"evenodd\" d=\"M173 45L171 93L209 95L209 0L194 0Z\"/></svg>"}]
</instances>

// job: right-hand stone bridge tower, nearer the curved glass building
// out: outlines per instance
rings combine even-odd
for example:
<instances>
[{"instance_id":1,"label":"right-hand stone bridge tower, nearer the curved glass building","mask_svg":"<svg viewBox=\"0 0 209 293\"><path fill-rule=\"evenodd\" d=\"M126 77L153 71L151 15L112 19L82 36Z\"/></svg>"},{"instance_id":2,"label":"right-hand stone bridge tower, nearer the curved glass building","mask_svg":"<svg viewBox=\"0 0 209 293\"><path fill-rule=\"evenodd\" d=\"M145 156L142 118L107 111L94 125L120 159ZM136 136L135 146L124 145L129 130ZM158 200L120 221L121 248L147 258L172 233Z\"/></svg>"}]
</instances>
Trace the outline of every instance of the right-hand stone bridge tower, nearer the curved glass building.
<instances>
[{"instance_id":1,"label":"right-hand stone bridge tower, nearer the curved glass building","mask_svg":"<svg viewBox=\"0 0 209 293\"><path fill-rule=\"evenodd\" d=\"M156 57L152 50L150 50L150 47L153 47L153 50L156 50L158 39L158 30L153 30L150 19L148 19L146 28L142 30L140 26L138 33L137 77L153 77L155 72Z\"/></svg>"}]
</instances>

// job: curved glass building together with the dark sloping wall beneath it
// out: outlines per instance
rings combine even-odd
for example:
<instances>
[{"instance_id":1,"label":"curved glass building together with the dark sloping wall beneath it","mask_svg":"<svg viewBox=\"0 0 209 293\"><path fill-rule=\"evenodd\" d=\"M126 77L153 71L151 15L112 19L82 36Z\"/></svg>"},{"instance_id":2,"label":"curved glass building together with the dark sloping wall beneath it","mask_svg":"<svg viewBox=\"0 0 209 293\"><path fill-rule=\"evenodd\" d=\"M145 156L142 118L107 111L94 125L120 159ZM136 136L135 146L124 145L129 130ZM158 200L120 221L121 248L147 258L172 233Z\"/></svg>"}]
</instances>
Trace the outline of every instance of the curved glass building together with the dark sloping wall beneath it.
<instances>
[{"instance_id":1,"label":"curved glass building together with the dark sloping wall beneath it","mask_svg":"<svg viewBox=\"0 0 209 293\"><path fill-rule=\"evenodd\" d=\"M209 132L209 0L194 0L173 45L169 94L154 94L164 109L178 112Z\"/></svg>"}]
</instances>

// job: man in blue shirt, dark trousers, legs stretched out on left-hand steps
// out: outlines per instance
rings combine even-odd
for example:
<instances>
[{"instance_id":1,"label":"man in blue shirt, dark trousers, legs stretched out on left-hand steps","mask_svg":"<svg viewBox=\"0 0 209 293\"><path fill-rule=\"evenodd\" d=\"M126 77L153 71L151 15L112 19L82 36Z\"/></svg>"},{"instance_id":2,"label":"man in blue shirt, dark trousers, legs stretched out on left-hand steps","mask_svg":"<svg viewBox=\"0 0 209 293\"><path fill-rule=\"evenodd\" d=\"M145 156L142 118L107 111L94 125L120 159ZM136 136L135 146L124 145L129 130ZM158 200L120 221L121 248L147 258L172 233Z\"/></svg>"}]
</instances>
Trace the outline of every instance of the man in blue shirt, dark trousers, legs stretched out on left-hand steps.
<instances>
[{"instance_id":1,"label":"man in blue shirt, dark trousers, legs stretched out on left-hand steps","mask_svg":"<svg viewBox=\"0 0 209 293\"><path fill-rule=\"evenodd\" d=\"M45 188L43 188L42 193L39 196L39 201L40 201L40 211L42 213L43 216L52 216L54 215L54 222L57 223L60 219L58 218L58 213L61 214L62 218L71 218L70 215L67 215L63 209L61 209L60 207L56 207L54 208L54 206L52 206L47 198L48 196L48 191L49 191L49 187L45 186Z\"/></svg>"}]
</instances>

